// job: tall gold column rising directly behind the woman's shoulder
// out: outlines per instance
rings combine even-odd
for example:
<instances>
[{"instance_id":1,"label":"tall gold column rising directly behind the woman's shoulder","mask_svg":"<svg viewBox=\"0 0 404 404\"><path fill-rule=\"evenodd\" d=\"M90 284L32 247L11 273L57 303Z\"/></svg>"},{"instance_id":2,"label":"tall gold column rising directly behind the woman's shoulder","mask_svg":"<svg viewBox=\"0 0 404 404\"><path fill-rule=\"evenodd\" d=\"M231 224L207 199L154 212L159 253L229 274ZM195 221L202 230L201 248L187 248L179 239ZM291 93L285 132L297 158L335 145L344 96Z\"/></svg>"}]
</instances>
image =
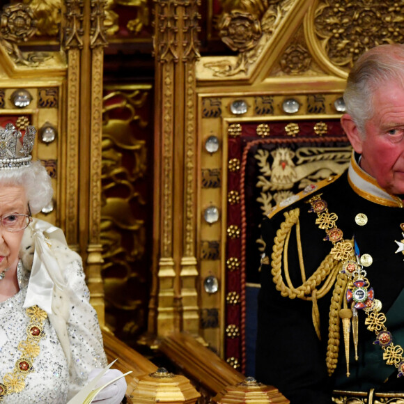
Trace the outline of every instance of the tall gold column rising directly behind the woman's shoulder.
<instances>
[{"instance_id":1,"label":"tall gold column rising directly behind the woman's shoulder","mask_svg":"<svg viewBox=\"0 0 404 404\"><path fill-rule=\"evenodd\" d=\"M101 277L102 70L105 0L65 0L68 50L66 235L86 263L91 304L104 325Z\"/></svg>"}]
</instances>

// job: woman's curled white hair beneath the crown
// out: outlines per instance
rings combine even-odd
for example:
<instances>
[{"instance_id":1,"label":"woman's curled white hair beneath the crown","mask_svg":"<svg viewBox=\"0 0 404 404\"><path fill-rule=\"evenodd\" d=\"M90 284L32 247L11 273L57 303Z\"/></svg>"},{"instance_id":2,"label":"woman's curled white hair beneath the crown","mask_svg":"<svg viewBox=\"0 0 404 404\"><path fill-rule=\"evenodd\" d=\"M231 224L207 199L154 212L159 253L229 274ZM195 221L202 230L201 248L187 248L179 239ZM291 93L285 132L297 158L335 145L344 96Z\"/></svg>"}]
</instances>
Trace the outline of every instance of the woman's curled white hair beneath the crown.
<instances>
[{"instance_id":1,"label":"woman's curled white hair beneath the crown","mask_svg":"<svg viewBox=\"0 0 404 404\"><path fill-rule=\"evenodd\" d=\"M22 185L32 214L40 212L52 200L51 178L39 161L25 167L0 170L1 185Z\"/></svg>"}]
</instances>

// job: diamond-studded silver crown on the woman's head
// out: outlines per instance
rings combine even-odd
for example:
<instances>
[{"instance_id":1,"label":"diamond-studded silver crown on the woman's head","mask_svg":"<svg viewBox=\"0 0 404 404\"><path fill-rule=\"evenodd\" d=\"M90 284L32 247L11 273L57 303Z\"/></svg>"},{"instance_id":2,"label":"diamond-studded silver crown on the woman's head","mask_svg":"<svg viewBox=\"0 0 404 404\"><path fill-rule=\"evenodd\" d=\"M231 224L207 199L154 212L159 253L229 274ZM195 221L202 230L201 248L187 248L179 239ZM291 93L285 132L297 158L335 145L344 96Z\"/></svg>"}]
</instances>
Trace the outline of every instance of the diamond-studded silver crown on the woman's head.
<instances>
[{"instance_id":1,"label":"diamond-studded silver crown on the woman's head","mask_svg":"<svg viewBox=\"0 0 404 404\"><path fill-rule=\"evenodd\" d=\"M31 151L35 139L36 129L27 126L22 141L22 134L13 123L0 128L0 170L18 169L28 166L31 162Z\"/></svg>"}]
</instances>

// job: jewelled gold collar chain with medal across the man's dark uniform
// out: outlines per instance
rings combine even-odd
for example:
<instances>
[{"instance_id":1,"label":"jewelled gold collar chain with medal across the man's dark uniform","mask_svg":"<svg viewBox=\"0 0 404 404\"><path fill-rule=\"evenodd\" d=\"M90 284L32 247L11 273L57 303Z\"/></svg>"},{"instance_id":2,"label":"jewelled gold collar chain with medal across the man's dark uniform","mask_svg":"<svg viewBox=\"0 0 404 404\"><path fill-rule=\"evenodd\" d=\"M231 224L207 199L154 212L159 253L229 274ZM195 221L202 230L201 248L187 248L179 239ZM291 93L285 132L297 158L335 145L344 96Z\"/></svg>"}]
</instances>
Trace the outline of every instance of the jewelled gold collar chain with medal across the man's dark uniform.
<instances>
[{"instance_id":1,"label":"jewelled gold collar chain with medal across the man's dark uniform","mask_svg":"<svg viewBox=\"0 0 404 404\"><path fill-rule=\"evenodd\" d=\"M384 325L387 318L381 312L382 303L375 299L375 292L366 278L366 271L359 262L360 251L354 240L345 240L343 232L336 226L338 216L329 213L327 202L321 199L321 194L313 196L307 203L311 204L309 212L317 214L316 224L327 233L325 240L332 242L333 247L330 254L337 261L343 262L341 274L348 277L348 285L345 298L351 303L352 313L347 313L344 309L340 311L343 321L348 323L348 327L343 327L345 333L350 332L350 318L352 318L352 332L355 345L355 359L357 359L357 311L363 309L366 313L365 325L370 331L375 332L375 344L380 345L383 350L383 359L388 365L398 368L397 377L404 375L404 349L401 345L394 345L391 332ZM346 323L345 323L346 324ZM347 341L344 338L344 341ZM347 376L349 376L349 337L348 347L345 345L345 357L347 360Z\"/></svg>"}]
</instances>

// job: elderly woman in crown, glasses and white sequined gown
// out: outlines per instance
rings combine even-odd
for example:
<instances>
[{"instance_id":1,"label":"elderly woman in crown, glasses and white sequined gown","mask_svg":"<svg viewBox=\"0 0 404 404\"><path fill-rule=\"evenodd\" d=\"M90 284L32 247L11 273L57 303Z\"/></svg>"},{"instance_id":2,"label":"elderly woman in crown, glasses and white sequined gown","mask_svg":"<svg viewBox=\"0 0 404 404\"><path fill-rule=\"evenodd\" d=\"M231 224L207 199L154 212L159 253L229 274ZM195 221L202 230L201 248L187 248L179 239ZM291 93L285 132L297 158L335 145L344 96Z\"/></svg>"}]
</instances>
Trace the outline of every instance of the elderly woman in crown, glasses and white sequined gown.
<instances>
[{"instance_id":1,"label":"elderly woman in crown, glasses and white sequined gown","mask_svg":"<svg viewBox=\"0 0 404 404\"><path fill-rule=\"evenodd\" d=\"M0 129L0 401L67 403L107 360L81 258L59 228L31 214L52 198L35 129ZM118 371L108 371L111 380ZM90 377L88 377L90 376ZM121 403L124 379L94 403Z\"/></svg>"}]
</instances>

